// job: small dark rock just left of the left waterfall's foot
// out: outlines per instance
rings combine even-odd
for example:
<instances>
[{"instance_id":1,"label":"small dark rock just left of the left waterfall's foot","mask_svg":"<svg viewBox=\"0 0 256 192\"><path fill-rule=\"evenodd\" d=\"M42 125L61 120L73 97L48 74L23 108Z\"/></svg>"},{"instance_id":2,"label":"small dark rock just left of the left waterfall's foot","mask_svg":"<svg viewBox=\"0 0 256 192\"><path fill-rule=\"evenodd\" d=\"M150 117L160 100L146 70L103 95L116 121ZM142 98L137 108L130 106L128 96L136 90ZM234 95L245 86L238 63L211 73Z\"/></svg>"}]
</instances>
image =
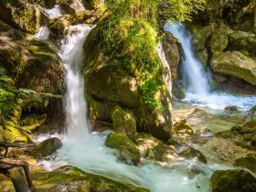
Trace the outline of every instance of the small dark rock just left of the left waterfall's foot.
<instances>
[{"instance_id":1,"label":"small dark rock just left of the left waterfall's foot","mask_svg":"<svg viewBox=\"0 0 256 192\"><path fill-rule=\"evenodd\" d=\"M40 159L52 155L62 146L61 141L57 137L49 138L38 144L36 148L31 151L31 155Z\"/></svg>"}]
</instances>

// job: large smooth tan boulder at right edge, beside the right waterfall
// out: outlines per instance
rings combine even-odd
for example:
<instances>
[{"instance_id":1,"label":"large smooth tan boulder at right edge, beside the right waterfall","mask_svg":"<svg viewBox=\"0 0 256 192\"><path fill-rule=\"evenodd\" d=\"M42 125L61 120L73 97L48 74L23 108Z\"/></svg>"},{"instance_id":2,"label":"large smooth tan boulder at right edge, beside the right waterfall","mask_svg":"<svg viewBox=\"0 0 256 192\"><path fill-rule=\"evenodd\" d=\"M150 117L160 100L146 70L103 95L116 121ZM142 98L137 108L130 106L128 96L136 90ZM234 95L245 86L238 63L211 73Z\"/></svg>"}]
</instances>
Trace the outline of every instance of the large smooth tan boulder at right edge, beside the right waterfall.
<instances>
[{"instance_id":1,"label":"large smooth tan boulder at right edge, beside the right waterfall","mask_svg":"<svg viewBox=\"0 0 256 192\"><path fill-rule=\"evenodd\" d=\"M238 51L227 51L211 60L215 72L228 74L256 85L256 61Z\"/></svg>"}]
</instances>

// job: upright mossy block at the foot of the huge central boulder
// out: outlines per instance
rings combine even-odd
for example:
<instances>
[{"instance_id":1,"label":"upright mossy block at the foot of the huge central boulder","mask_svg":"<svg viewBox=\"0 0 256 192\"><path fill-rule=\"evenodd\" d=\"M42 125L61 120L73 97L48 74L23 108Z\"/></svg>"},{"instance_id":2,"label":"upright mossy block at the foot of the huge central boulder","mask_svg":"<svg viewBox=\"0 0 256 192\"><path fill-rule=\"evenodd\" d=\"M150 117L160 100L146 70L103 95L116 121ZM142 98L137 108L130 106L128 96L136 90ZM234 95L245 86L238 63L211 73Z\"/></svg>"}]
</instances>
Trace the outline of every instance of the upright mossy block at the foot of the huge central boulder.
<instances>
[{"instance_id":1,"label":"upright mossy block at the foot of the huge central boulder","mask_svg":"<svg viewBox=\"0 0 256 192\"><path fill-rule=\"evenodd\" d=\"M125 111L119 106L112 110L112 129L116 133L124 133L134 140L136 134L136 119L133 112Z\"/></svg>"}]
</instances>

